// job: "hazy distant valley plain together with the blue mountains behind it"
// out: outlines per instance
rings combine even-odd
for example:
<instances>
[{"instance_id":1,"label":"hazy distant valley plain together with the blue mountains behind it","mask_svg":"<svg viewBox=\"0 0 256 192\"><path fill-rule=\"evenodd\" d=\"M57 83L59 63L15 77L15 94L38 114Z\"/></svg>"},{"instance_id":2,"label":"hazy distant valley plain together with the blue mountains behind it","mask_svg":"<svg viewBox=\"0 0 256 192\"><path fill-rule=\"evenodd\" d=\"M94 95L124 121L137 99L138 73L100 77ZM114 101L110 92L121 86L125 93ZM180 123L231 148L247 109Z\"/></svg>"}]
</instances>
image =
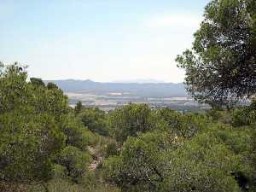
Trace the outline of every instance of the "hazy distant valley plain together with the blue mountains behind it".
<instances>
[{"instance_id":1,"label":"hazy distant valley plain together with the blue mountains behind it","mask_svg":"<svg viewBox=\"0 0 256 192\"><path fill-rule=\"evenodd\" d=\"M48 80L57 84L75 106L79 101L87 108L109 111L132 103L147 103L151 108L174 108L198 111L207 108L195 102L183 83L100 83L87 80ZM150 82L146 79L143 82ZM151 81L152 82L152 81Z\"/></svg>"}]
</instances>

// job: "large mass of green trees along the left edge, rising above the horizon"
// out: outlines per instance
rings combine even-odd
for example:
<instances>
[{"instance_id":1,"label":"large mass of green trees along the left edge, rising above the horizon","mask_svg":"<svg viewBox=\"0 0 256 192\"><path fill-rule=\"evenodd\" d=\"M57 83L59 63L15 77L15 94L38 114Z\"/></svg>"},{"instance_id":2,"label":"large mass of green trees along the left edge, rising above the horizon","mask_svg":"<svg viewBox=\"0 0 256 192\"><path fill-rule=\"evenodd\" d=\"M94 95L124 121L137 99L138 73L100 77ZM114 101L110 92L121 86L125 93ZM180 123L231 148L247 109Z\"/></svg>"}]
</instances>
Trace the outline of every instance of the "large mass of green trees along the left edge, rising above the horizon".
<instances>
[{"instance_id":1,"label":"large mass of green trees along the left edge, rising above the horizon","mask_svg":"<svg viewBox=\"0 0 256 192\"><path fill-rule=\"evenodd\" d=\"M55 84L26 79L24 67L1 67L0 184L46 183L57 165L77 179L90 163L87 146L93 133Z\"/></svg>"}]
</instances>

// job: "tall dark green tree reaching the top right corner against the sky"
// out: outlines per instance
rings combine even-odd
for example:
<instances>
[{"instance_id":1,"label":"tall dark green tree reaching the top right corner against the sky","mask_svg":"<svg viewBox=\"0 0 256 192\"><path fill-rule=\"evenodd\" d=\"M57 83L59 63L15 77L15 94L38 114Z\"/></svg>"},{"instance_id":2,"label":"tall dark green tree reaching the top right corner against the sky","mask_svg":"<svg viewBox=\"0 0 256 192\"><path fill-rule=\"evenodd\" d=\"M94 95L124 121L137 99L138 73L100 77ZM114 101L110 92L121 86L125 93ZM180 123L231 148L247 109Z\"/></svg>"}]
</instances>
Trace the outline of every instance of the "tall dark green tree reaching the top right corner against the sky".
<instances>
[{"instance_id":1,"label":"tall dark green tree reaching the top right corner against the sky","mask_svg":"<svg viewBox=\"0 0 256 192\"><path fill-rule=\"evenodd\" d=\"M189 93L212 106L230 107L256 90L256 3L213 0L192 49L177 56Z\"/></svg>"}]
</instances>

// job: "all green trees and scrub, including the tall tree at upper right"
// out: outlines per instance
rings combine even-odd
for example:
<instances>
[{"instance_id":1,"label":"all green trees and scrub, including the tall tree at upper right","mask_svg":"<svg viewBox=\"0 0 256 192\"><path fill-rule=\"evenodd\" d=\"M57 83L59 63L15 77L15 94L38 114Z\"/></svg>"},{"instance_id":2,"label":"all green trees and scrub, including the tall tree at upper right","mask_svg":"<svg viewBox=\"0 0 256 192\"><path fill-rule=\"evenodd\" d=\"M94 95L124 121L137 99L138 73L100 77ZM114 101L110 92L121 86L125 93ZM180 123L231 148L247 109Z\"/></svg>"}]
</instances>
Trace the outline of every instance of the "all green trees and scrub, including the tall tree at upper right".
<instances>
[{"instance_id":1,"label":"all green trees and scrub, including the tall tree at upper right","mask_svg":"<svg viewBox=\"0 0 256 192\"><path fill-rule=\"evenodd\" d=\"M205 113L71 108L55 84L1 64L0 191L256 191L255 5L212 1L177 56Z\"/></svg>"}]
</instances>

